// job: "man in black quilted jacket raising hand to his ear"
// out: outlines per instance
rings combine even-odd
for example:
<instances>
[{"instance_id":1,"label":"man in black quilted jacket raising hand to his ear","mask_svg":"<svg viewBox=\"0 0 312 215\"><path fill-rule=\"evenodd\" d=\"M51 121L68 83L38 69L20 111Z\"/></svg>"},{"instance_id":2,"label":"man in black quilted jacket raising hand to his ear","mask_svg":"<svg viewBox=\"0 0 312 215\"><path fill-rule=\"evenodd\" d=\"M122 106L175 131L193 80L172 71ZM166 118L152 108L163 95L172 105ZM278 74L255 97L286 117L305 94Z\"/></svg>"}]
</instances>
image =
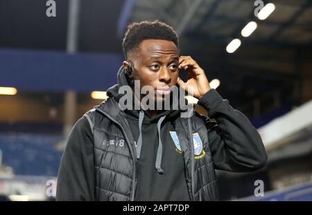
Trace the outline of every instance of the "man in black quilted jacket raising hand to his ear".
<instances>
[{"instance_id":1,"label":"man in black quilted jacket raising hand to his ear","mask_svg":"<svg viewBox=\"0 0 312 215\"><path fill-rule=\"evenodd\" d=\"M118 84L69 135L57 200L217 200L215 169L254 171L266 164L257 130L209 87L194 59L179 57L171 26L159 21L131 24L123 51ZM179 77L182 68L187 82ZM135 90L124 109L122 88L134 89L137 81L139 89L152 88L150 102L155 104L168 101L174 86L191 91L216 122L190 110L182 117L182 104L173 109L173 102L169 109L146 109L145 94Z\"/></svg>"}]
</instances>

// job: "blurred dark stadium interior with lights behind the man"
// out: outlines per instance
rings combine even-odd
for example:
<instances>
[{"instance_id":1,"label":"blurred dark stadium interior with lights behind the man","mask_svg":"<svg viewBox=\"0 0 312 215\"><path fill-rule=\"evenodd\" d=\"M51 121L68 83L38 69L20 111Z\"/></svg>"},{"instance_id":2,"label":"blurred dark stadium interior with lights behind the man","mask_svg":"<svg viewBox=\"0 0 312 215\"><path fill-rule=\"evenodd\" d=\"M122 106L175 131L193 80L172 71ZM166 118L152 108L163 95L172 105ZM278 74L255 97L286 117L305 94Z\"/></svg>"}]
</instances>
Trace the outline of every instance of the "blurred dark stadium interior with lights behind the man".
<instances>
[{"instance_id":1,"label":"blurred dark stadium interior with lights behind the man","mask_svg":"<svg viewBox=\"0 0 312 215\"><path fill-rule=\"evenodd\" d=\"M116 83L125 26L146 19L177 30L265 143L260 171L217 171L220 199L312 200L312 1L58 0L55 17L47 2L0 0L0 200L54 199L68 132Z\"/></svg>"}]
</instances>

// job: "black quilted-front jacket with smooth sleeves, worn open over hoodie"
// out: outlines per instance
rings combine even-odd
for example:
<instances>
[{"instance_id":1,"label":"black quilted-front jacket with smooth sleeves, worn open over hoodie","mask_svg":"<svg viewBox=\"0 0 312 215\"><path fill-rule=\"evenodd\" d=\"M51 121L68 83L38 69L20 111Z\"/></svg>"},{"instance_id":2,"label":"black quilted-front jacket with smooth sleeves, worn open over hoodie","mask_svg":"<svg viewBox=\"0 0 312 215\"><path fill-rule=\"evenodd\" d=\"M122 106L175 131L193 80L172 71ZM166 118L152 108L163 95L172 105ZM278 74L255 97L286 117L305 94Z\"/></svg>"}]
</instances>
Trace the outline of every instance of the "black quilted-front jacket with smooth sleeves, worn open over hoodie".
<instances>
[{"instance_id":1,"label":"black quilted-front jacket with smooth sleeves, worn open over hoodie","mask_svg":"<svg viewBox=\"0 0 312 215\"><path fill-rule=\"evenodd\" d=\"M250 121L216 90L207 92L198 104L216 122L189 112L190 118L177 117L173 125L190 199L217 200L215 169L254 171L266 164L267 155ZM125 114L114 97L109 97L76 123L60 165L57 200L135 200L137 150ZM81 126L83 120L89 127ZM202 142L200 156L195 156L194 133Z\"/></svg>"}]
</instances>

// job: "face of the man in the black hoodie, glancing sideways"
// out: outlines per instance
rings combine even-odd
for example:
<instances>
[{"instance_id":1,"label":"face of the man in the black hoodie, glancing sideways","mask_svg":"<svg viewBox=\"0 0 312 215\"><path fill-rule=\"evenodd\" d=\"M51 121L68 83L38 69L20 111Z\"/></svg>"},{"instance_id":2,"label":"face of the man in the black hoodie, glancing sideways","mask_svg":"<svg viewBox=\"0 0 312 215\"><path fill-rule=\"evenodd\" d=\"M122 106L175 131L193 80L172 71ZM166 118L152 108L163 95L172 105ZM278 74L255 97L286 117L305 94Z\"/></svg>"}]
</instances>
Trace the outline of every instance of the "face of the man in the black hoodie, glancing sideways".
<instances>
[{"instance_id":1,"label":"face of the man in the black hoodie, glancing sideways","mask_svg":"<svg viewBox=\"0 0 312 215\"><path fill-rule=\"evenodd\" d=\"M175 86L179 75L177 66L179 56L173 41L146 39L136 50L132 59L135 77L140 80L140 87L152 86L155 101L164 102ZM160 89L159 89L160 88Z\"/></svg>"}]
</instances>

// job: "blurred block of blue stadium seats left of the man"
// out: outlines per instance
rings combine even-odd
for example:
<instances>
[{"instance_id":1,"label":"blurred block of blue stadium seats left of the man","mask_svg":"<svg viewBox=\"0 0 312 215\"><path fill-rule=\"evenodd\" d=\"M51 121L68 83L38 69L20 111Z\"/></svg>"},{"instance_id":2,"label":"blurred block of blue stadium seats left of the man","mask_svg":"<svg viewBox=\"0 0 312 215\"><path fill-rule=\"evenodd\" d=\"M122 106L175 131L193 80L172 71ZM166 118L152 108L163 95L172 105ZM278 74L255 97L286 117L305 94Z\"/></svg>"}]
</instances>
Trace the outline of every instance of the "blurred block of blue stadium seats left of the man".
<instances>
[{"instance_id":1,"label":"blurred block of blue stadium seats left of the man","mask_svg":"<svg viewBox=\"0 0 312 215\"><path fill-rule=\"evenodd\" d=\"M0 133L3 164L16 175L57 176L62 151L55 150L61 135Z\"/></svg>"}]
</instances>

